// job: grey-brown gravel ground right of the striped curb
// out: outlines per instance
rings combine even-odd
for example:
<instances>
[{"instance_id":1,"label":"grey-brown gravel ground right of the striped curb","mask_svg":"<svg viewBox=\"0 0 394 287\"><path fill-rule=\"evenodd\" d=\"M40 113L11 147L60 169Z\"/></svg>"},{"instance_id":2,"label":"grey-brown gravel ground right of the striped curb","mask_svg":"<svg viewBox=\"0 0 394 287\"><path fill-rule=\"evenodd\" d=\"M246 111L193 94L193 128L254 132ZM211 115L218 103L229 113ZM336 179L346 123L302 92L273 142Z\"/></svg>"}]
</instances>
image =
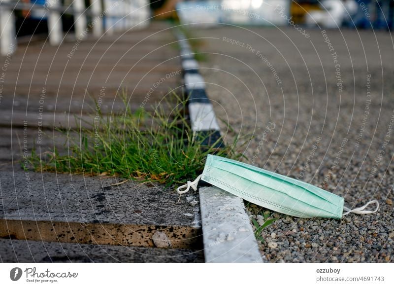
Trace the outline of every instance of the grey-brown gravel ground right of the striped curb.
<instances>
[{"instance_id":1,"label":"grey-brown gravel ground right of the striped curb","mask_svg":"<svg viewBox=\"0 0 394 287\"><path fill-rule=\"evenodd\" d=\"M375 214L341 220L249 205L260 223L264 213L277 218L261 234L266 260L394 262L391 35L316 29L306 38L292 27L195 33L207 37L201 74L217 116L235 134L254 136L246 162L320 186L345 206L380 203ZM234 133L221 128L230 141Z\"/></svg>"}]
</instances>

